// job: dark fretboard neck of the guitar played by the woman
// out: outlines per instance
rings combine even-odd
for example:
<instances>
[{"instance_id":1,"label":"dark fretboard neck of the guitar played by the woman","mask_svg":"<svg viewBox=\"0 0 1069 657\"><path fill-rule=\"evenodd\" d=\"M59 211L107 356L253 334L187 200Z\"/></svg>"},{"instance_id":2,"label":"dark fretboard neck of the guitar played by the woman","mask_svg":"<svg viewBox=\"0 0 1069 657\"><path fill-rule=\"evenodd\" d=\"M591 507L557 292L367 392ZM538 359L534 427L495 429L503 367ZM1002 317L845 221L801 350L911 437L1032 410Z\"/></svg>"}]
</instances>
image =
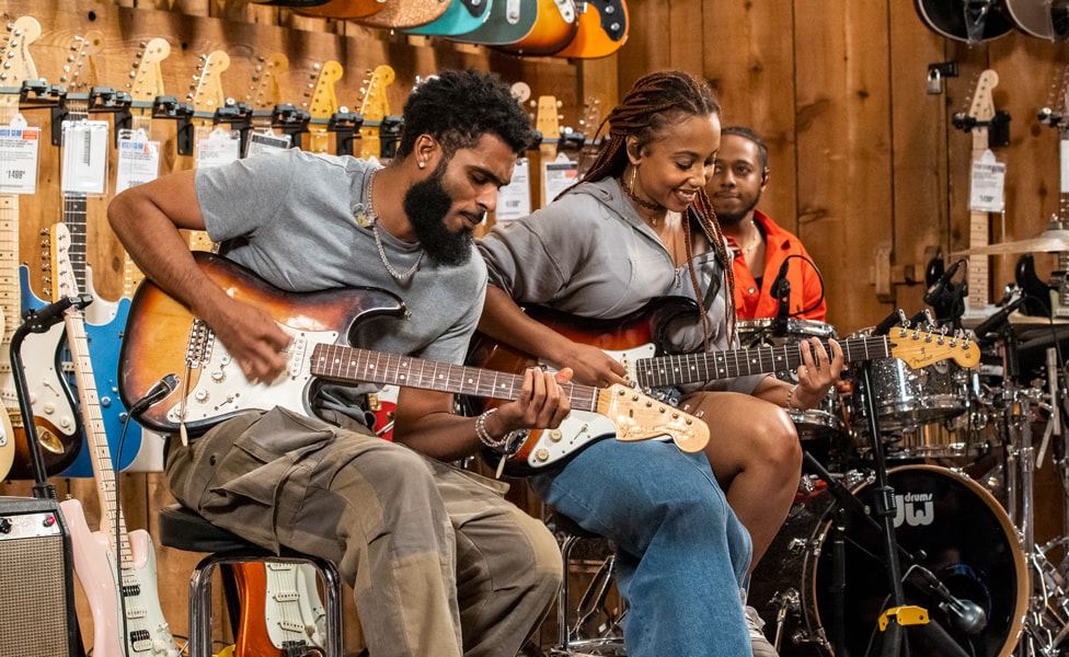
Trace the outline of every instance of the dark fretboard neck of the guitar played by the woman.
<instances>
[{"instance_id":1,"label":"dark fretboard neck of the guitar played by the woman","mask_svg":"<svg viewBox=\"0 0 1069 657\"><path fill-rule=\"evenodd\" d=\"M848 362L892 356L890 341L883 335L852 337L840 342L839 345ZM635 364L635 376L642 388L664 388L749 374L769 374L793 370L802 364L802 346L792 344L641 358Z\"/></svg>"}]
</instances>

